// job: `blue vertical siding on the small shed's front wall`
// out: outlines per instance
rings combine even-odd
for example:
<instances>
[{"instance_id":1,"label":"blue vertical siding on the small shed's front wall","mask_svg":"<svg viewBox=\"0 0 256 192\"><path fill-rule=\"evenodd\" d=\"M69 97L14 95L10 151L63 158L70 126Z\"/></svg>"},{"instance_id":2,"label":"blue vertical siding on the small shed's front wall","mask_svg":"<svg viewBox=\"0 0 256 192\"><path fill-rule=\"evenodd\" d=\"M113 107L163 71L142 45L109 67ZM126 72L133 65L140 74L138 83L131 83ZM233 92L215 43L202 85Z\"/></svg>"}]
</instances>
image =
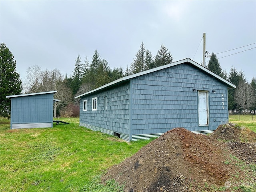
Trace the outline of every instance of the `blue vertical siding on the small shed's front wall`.
<instances>
[{"instance_id":1,"label":"blue vertical siding on the small shed's front wall","mask_svg":"<svg viewBox=\"0 0 256 192\"><path fill-rule=\"evenodd\" d=\"M11 99L11 125L51 122L53 94L22 96Z\"/></svg>"}]
</instances>

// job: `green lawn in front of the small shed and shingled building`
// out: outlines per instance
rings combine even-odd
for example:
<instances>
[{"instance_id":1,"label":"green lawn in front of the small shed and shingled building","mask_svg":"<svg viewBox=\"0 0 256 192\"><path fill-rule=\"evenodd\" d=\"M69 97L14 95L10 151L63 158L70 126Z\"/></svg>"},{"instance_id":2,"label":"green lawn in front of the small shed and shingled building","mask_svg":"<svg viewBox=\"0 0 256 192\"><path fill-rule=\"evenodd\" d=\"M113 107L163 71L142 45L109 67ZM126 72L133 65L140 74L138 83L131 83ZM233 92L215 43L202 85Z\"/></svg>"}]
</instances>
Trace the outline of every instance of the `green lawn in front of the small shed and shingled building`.
<instances>
[{"instance_id":1,"label":"green lawn in front of the small shed and shingled building","mask_svg":"<svg viewBox=\"0 0 256 192\"><path fill-rule=\"evenodd\" d=\"M99 184L99 175L150 142L127 143L79 127L78 118L59 120L70 124L10 130L1 118L1 192L119 191L113 181Z\"/></svg>"}]
</instances>

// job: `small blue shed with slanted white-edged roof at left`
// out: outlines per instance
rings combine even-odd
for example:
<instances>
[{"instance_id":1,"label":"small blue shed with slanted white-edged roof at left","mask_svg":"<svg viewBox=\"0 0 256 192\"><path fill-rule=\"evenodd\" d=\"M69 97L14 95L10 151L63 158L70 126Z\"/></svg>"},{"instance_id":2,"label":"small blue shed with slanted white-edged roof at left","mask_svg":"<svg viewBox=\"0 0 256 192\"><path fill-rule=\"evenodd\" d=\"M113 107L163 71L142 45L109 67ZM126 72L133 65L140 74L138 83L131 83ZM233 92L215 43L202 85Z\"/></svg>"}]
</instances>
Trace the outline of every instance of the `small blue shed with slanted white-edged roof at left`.
<instances>
[{"instance_id":1,"label":"small blue shed with slanted white-edged roof at left","mask_svg":"<svg viewBox=\"0 0 256 192\"><path fill-rule=\"evenodd\" d=\"M11 129L47 128L53 125L53 98L57 91L10 95Z\"/></svg>"}]
</instances>

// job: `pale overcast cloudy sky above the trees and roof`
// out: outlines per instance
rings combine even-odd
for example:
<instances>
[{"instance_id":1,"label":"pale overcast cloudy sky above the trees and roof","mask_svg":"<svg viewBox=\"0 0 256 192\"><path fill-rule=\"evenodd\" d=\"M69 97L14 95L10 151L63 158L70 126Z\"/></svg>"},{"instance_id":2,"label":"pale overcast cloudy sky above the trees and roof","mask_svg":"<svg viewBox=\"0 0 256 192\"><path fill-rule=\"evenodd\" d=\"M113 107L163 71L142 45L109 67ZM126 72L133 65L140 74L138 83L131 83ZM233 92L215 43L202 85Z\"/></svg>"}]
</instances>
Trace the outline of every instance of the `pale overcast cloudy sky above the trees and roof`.
<instances>
[{"instance_id":1,"label":"pale overcast cloudy sky above the trees and roof","mask_svg":"<svg viewBox=\"0 0 256 192\"><path fill-rule=\"evenodd\" d=\"M164 44L173 61L201 63L203 33L206 50L216 53L223 70L234 66L248 81L256 77L255 0L1 0L0 27L0 41L14 55L22 80L33 65L72 75L78 54L91 61L95 50L110 68L125 69L142 41L153 56Z\"/></svg>"}]
</instances>

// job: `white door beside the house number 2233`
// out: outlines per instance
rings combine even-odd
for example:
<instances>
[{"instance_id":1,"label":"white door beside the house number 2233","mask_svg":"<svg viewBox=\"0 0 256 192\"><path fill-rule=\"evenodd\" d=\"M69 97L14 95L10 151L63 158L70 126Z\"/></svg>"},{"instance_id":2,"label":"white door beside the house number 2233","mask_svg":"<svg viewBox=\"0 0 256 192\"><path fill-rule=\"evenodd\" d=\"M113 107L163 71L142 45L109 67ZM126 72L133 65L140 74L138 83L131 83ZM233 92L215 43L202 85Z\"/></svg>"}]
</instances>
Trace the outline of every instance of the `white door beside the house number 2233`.
<instances>
[{"instance_id":1,"label":"white door beside the house number 2233","mask_svg":"<svg viewBox=\"0 0 256 192\"><path fill-rule=\"evenodd\" d=\"M208 125L208 92L198 92L199 125Z\"/></svg>"}]
</instances>

